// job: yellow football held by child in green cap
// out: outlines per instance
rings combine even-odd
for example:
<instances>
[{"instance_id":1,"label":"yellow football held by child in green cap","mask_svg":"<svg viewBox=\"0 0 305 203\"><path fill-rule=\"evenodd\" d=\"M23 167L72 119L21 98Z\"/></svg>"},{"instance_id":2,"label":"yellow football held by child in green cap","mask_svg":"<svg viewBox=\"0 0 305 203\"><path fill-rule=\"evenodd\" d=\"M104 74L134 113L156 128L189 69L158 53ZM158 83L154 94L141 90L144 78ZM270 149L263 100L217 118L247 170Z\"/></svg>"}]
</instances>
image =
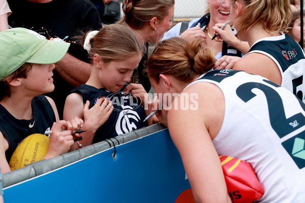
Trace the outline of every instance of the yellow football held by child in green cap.
<instances>
[{"instance_id":1,"label":"yellow football held by child in green cap","mask_svg":"<svg viewBox=\"0 0 305 203\"><path fill-rule=\"evenodd\" d=\"M31 134L26 137L15 149L11 160L11 170L22 168L27 164L41 160L49 149L49 138L44 134Z\"/></svg>"}]
</instances>

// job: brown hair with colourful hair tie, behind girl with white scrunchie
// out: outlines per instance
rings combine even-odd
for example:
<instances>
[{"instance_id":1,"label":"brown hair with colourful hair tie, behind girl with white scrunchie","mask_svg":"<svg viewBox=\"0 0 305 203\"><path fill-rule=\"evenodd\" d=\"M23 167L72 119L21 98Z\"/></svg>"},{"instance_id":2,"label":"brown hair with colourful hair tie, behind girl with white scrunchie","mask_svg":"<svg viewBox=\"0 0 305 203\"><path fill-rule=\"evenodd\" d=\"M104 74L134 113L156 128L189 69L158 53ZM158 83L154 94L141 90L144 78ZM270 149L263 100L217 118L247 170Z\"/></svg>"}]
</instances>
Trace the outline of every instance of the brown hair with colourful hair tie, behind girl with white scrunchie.
<instances>
[{"instance_id":1,"label":"brown hair with colourful hair tie, behind girl with white scrunchie","mask_svg":"<svg viewBox=\"0 0 305 203\"><path fill-rule=\"evenodd\" d=\"M169 7L175 4L174 0L129 0L123 5L125 15L118 23L127 23L133 29L139 29L157 17L163 20L168 14Z\"/></svg>"}]
</instances>

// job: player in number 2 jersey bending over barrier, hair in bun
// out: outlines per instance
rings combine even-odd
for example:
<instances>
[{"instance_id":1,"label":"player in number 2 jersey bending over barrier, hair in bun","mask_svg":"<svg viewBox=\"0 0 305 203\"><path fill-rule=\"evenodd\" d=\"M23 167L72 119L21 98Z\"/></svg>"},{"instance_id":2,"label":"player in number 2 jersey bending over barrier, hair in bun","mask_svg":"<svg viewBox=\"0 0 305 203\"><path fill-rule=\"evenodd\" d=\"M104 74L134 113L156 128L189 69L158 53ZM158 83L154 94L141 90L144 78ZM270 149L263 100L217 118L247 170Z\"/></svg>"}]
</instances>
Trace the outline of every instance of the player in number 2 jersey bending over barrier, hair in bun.
<instances>
[{"instance_id":1,"label":"player in number 2 jersey bending over barrier, hair in bun","mask_svg":"<svg viewBox=\"0 0 305 203\"><path fill-rule=\"evenodd\" d=\"M219 155L252 165L264 188L255 202L302 202L305 164L298 151L303 145L298 144L305 139L299 130L305 126L299 122L305 120L305 105L261 76L211 71L212 53L201 40L172 38L147 61L159 98L155 109L158 103L163 108L156 116L169 128L196 202L234 200L228 195ZM292 127L295 119L299 123Z\"/></svg>"}]
</instances>

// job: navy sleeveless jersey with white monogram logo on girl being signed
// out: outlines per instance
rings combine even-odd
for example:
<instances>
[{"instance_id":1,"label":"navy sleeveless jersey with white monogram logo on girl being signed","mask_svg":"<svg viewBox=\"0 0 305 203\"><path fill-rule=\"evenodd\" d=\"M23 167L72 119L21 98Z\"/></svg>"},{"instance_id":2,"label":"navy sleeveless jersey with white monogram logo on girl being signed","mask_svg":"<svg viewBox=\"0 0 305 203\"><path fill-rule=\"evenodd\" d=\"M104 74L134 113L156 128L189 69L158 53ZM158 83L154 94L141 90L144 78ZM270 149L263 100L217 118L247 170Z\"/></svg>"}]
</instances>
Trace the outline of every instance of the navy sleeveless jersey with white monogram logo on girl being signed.
<instances>
[{"instance_id":1,"label":"navy sleeveless jersey with white monogram logo on girl being signed","mask_svg":"<svg viewBox=\"0 0 305 203\"><path fill-rule=\"evenodd\" d=\"M86 84L72 90L72 93L82 95L83 104L86 103L86 100L90 101L89 109L95 105L100 97L108 97L112 102L113 111L108 120L97 130L93 143L147 126L147 122L143 122L146 114L140 99L133 98L131 93L124 93L126 86L127 84L119 92L110 92L105 88L97 89Z\"/></svg>"}]
</instances>

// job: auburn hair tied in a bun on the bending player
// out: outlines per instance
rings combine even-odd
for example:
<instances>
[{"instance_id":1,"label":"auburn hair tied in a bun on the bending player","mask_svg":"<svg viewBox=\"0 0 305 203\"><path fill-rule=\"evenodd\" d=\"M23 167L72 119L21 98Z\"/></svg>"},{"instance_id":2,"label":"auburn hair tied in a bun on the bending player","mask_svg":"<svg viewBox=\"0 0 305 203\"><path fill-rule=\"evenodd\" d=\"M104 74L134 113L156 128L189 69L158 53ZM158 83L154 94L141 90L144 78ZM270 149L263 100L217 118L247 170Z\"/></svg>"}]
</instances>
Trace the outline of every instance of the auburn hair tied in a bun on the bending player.
<instances>
[{"instance_id":1,"label":"auburn hair tied in a bun on the bending player","mask_svg":"<svg viewBox=\"0 0 305 203\"><path fill-rule=\"evenodd\" d=\"M181 83L190 83L215 65L215 54L202 40L187 42L181 38L163 41L147 61L149 79L159 83L159 75L170 75Z\"/></svg>"}]
</instances>

